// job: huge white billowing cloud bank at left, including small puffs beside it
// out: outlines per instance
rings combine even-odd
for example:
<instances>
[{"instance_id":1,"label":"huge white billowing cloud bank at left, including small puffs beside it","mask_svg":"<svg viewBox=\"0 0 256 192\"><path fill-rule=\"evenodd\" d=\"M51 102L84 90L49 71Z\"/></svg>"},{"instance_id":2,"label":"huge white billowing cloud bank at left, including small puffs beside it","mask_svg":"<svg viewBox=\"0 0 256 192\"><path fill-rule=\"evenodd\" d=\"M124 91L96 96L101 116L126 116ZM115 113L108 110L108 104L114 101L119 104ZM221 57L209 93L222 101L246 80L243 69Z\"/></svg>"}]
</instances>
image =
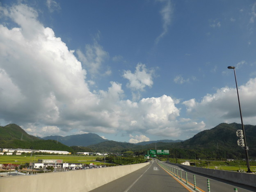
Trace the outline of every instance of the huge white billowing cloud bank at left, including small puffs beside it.
<instances>
[{"instance_id":1,"label":"huge white billowing cloud bank at left, including small puffs beside it","mask_svg":"<svg viewBox=\"0 0 256 192\"><path fill-rule=\"evenodd\" d=\"M169 96L123 100L119 82L107 91L89 90L87 73L96 74L108 55L97 43L78 52L85 69L53 30L37 20L26 5L1 7L17 27L0 25L0 114L5 122L23 126L34 135L65 132L117 133L125 131L156 135L174 134L179 109ZM95 66L95 68L93 68ZM125 71L131 89L151 87L153 71L138 64L135 73ZM155 131L154 129L158 129ZM51 131L50 131L51 130Z\"/></svg>"}]
</instances>

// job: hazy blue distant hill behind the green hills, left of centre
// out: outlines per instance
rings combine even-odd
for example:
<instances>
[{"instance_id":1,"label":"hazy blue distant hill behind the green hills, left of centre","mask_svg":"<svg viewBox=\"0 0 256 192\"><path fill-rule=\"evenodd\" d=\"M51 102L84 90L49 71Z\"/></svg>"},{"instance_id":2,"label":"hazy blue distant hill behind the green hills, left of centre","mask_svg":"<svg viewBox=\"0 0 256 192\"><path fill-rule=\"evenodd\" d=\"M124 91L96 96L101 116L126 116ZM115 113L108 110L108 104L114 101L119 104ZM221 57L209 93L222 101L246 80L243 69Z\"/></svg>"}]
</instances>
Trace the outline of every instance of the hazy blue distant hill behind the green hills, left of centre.
<instances>
[{"instance_id":1,"label":"hazy blue distant hill behind the green hills, left of centre","mask_svg":"<svg viewBox=\"0 0 256 192\"><path fill-rule=\"evenodd\" d=\"M94 133L69 135L66 137L55 135L55 136L43 137L42 139L45 139L45 140L53 139L67 146L88 146L88 145L93 145L93 144L107 141L107 139L103 139L102 137Z\"/></svg>"}]
</instances>

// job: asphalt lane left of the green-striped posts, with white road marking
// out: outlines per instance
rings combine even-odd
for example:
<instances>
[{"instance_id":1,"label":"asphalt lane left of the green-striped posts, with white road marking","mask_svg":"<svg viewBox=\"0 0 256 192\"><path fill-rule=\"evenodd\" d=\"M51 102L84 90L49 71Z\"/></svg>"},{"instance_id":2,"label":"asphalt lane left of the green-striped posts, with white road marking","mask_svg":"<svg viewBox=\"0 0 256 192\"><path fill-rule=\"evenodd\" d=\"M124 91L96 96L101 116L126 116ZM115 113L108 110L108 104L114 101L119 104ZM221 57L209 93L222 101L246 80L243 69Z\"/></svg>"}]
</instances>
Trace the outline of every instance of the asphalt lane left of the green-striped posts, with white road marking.
<instances>
[{"instance_id":1,"label":"asphalt lane left of the green-striped posts, with white road marking","mask_svg":"<svg viewBox=\"0 0 256 192\"><path fill-rule=\"evenodd\" d=\"M187 192L185 184L170 176L153 160L150 165L133 173L123 176L115 181L98 187L91 192Z\"/></svg>"}]
</instances>

